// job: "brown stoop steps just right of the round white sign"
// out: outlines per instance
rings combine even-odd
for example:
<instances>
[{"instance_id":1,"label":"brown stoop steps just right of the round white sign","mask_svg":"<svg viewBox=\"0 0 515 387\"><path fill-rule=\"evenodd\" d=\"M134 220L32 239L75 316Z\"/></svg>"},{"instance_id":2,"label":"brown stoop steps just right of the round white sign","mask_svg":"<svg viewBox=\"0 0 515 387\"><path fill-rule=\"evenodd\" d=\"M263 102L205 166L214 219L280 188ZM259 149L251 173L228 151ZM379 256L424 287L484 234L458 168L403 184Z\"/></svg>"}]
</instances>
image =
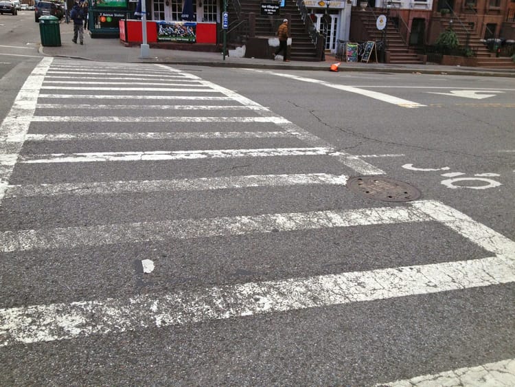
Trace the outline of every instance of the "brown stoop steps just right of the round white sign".
<instances>
[{"instance_id":1,"label":"brown stoop steps just right of the round white sign","mask_svg":"<svg viewBox=\"0 0 515 387\"><path fill-rule=\"evenodd\" d=\"M361 23L367 33L369 41L382 41L382 32L376 27L377 15L367 8L366 10L352 10L352 23ZM402 40L393 20L389 20L386 27L387 52L389 63L424 64L424 61Z\"/></svg>"}]
</instances>

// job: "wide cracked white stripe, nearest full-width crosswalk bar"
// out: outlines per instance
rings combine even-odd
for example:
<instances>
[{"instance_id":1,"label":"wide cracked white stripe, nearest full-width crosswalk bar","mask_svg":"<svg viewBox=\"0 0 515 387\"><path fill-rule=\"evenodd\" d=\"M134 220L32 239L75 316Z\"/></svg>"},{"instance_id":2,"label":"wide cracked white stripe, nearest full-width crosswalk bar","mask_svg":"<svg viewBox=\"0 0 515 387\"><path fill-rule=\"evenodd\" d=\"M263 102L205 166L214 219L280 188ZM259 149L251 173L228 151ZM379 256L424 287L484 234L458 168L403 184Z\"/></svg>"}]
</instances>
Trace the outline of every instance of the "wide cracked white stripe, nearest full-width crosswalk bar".
<instances>
[{"instance_id":1,"label":"wide cracked white stripe, nearest full-width crosswalk bar","mask_svg":"<svg viewBox=\"0 0 515 387\"><path fill-rule=\"evenodd\" d=\"M194 324L352 302L512 283L499 258L244 283L128 300L80 301L0 309L0 346Z\"/></svg>"}]
</instances>

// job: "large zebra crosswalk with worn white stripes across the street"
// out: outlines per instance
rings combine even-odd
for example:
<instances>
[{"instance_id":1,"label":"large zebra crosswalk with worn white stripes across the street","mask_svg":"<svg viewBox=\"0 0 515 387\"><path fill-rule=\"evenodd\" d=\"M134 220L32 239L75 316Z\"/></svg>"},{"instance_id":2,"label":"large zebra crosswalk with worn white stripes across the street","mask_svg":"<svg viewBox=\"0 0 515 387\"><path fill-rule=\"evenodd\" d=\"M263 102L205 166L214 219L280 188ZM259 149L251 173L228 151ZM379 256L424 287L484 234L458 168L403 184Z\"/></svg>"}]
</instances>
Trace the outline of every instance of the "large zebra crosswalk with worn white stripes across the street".
<instances>
[{"instance_id":1,"label":"large zebra crosswalk with worn white stripes across the street","mask_svg":"<svg viewBox=\"0 0 515 387\"><path fill-rule=\"evenodd\" d=\"M216 285L206 281L203 286L151 289L126 297L4 302L0 347L101 336L115 340L129 331L145 335L165 327L515 282L515 242L440 201L350 205L365 203L349 199L345 184L351 175L384 174L365 159L399 155L346 153L249 98L165 65L90 63L79 73L83 65L43 58L0 126L0 254L10 259L34 254L45 260L56 251L82 254L109 246L124 246L128 252L128 245L146 250L176 241L206 243L209 251L211 239L244 236L259 241L293 233L323 245L317 232L431 224L473 245L477 256L449 256L448 261L428 256L414 265L286 278L264 275ZM256 206L216 202L236 201L240 195L248 199L249 190L255 190ZM317 202L326 190L347 199L341 199L341 207L329 199ZM227 196L215 200L208 195L219 191ZM178 201L176 210L163 207L149 219L126 208L115 217L124 221L89 219L88 208L73 210L83 200L94 201L101 209L98 216L102 208L111 213L104 201L152 195L165 195L156 199L165 203ZM56 212L69 211L69 216L60 215L64 224L38 225L16 217L26 211L24 206L52 217L45 207L49 203L62 207ZM209 210L201 210L205 207ZM410 236L413 243L418 237ZM345 243L353 243L352 238ZM260 247L253 254L249 261L260 260ZM155 271L159 269L156 265ZM14 294L16 287L4 291ZM376 375L376 382L388 382L385 377Z\"/></svg>"}]
</instances>

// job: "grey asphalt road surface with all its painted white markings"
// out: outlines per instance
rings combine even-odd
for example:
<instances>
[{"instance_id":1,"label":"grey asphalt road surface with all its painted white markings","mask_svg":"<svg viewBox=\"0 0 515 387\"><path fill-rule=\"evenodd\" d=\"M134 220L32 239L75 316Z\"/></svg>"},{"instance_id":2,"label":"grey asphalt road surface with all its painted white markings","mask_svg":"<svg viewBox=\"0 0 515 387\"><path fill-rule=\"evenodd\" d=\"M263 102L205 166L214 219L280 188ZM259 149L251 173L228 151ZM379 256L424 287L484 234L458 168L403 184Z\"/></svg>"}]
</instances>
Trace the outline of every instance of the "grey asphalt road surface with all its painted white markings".
<instances>
[{"instance_id":1,"label":"grey asphalt road surface with all its painted white markings","mask_svg":"<svg viewBox=\"0 0 515 387\"><path fill-rule=\"evenodd\" d=\"M3 68L0 384L515 384L512 78Z\"/></svg>"}]
</instances>

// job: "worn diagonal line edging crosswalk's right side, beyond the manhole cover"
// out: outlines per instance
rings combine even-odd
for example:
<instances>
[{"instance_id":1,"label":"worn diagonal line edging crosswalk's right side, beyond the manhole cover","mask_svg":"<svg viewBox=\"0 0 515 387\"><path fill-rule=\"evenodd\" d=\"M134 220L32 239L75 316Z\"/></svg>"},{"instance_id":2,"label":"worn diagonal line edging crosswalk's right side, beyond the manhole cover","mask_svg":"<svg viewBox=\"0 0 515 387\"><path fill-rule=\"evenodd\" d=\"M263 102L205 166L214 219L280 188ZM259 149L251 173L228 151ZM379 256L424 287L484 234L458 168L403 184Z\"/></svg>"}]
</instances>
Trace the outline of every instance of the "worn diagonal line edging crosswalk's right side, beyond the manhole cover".
<instances>
[{"instance_id":1,"label":"worn diagonal line edging crosswalk's right side, beyond the manhole cover","mask_svg":"<svg viewBox=\"0 0 515 387\"><path fill-rule=\"evenodd\" d=\"M170 69L170 67L167 67L165 65L158 65L159 67L162 67L163 69ZM192 76L194 78L194 76ZM198 78L201 79L201 78ZM206 80L203 80L203 84L207 87L211 87L214 90L219 91L220 93L224 94L225 96L231 98L231 100L236 100L240 102L240 104L244 106L256 106L256 107L262 107L262 105L258 104L258 102L255 102L253 100L250 100L247 97L244 97L236 91L232 91L230 89L225 89L225 87L221 87L219 85L216 85L214 83L208 82ZM282 118L279 115L276 115L272 111L260 111L258 112L262 115L266 115L268 117L273 116L277 118ZM299 140L306 142L306 144L309 144L311 146L324 146L328 148L332 148L332 144L329 142L326 142L325 140L322 140L320 137L317 137L316 135L313 135L312 133L309 133L308 131L305 131L300 126L297 126L293 124L293 122L284 122L282 124L278 124L284 131L288 131L290 133L295 134L295 137L297 137ZM336 155L336 154L335 154ZM350 155L348 153L345 153L343 151L338 151L337 154L339 162L344 164L345 166L348 166L349 168L352 168L357 173L361 175L382 175L385 172L383 170L380 170L379 168L376 168L376 166L373 166L372 164L369 164L362 160L359 157Z\"/></svg>"}]
</instances>

